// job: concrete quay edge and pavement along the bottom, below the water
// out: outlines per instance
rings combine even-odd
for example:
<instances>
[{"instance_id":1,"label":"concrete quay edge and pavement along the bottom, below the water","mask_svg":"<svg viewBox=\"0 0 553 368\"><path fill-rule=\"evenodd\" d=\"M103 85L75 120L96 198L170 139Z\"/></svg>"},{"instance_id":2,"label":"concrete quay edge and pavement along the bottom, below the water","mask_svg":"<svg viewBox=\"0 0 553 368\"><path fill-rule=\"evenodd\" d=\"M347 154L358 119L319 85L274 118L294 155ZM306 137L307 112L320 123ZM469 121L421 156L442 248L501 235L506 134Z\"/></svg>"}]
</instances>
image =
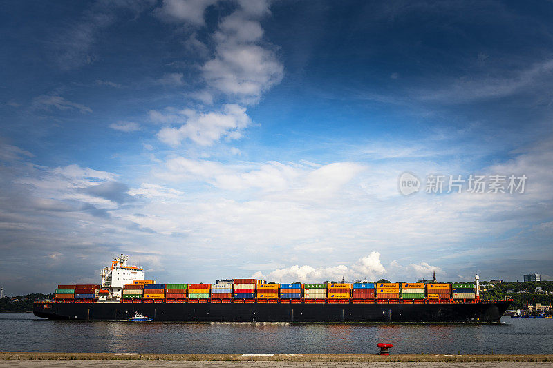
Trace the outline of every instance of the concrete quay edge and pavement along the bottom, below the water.
<instances>
[{"instance_id":1,"label":"concrete quay edge and pavement along the bottom, below the water","mask_svg":"<svg viewBox=\"0 0 553 368\"><path fill-rule=\"evenodd\" d=\"M549 355L0 353L0 368L552 367Z\"/></svg>"}]
</instances>

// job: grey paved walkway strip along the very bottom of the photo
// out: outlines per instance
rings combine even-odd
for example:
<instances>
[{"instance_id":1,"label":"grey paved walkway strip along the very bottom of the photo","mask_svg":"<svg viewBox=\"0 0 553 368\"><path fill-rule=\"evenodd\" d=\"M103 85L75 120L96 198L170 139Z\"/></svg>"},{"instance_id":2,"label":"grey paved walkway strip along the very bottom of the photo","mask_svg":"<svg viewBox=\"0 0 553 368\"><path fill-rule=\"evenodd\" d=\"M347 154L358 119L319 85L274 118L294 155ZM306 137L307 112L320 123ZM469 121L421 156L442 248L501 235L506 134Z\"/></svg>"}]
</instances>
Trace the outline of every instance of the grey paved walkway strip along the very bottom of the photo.
<instances>
[{"instance_id":1,"label":"grey paved walkway strip along the very bottom of the photo","mask_svg":"<svg viewBox=\"0 0 553 368\"><path fill-rule=\"evenodd\" d=\"M0 368L553 368L553 362L178 362L125 360L0 360Z\"/></svg>"}]
</instances>

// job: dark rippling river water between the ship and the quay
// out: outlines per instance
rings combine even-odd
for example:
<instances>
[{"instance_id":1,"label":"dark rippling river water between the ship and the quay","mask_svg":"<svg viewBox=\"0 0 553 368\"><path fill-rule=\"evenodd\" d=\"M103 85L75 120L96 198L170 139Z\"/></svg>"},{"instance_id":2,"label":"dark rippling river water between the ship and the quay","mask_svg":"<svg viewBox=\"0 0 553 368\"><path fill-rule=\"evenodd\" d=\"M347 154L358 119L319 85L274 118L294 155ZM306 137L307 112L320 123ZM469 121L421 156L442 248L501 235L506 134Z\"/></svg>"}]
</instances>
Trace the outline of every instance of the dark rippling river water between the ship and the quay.
<instances>
[{"instance_id":1,"label":"dark rippling river water between the ship and the quay","mask_svg":"<svg viewBox=\"0 0 553 368\"><path fill-rule=\"evenodd\" d=\"M552 318L498 325L56 321L0 313L0 351L135 353L552 354Z\"/></svg>"}]
</instances>

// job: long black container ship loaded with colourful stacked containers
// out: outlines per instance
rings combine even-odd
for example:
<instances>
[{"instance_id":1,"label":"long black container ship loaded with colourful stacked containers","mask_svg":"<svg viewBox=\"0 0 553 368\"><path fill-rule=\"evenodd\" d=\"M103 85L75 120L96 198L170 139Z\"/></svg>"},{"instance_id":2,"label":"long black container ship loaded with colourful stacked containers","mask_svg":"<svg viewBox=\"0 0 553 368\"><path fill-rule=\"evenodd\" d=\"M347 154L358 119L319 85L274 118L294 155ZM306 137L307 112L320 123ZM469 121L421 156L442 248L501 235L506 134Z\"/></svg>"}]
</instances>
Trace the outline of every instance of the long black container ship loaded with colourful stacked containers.
<instances>
[{"instance_id":1,"label":"long black container ship loaded with colourful stacked containers","mask_svg":"<svg viewBox=\"0 0 553 368\"><path fill-rule=\"evenodd\" d=\"M58 320L182 322L498 323L512 300L480 300L474 283L276 284L256 279L215 284L157 284L120 255L101 284L60 284L54 300L35 302L35 316Z\"/></svg>"}]
</instances>

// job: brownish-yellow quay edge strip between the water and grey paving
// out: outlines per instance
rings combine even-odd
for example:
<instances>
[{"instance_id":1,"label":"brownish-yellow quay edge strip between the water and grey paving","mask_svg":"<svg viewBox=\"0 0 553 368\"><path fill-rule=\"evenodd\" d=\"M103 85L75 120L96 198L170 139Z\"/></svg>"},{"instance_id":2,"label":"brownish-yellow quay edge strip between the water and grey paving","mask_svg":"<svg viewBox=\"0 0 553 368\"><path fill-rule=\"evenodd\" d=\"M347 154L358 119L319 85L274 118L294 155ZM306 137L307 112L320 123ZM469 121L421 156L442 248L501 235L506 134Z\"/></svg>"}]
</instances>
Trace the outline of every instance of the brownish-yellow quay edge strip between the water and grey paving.
<instances>
[{"instance_id":1,"label":"brownish-yellow quay edge strip between the water and grey paving","mask_svg":"<svg viewBox=\"0 0 553 368\"><path fill-rule=\"evenodd\" d=\"M553 362L553 354L138 354L0 352L0 360L182 360L289 362Z\"/></svg>"}]
</instances>

